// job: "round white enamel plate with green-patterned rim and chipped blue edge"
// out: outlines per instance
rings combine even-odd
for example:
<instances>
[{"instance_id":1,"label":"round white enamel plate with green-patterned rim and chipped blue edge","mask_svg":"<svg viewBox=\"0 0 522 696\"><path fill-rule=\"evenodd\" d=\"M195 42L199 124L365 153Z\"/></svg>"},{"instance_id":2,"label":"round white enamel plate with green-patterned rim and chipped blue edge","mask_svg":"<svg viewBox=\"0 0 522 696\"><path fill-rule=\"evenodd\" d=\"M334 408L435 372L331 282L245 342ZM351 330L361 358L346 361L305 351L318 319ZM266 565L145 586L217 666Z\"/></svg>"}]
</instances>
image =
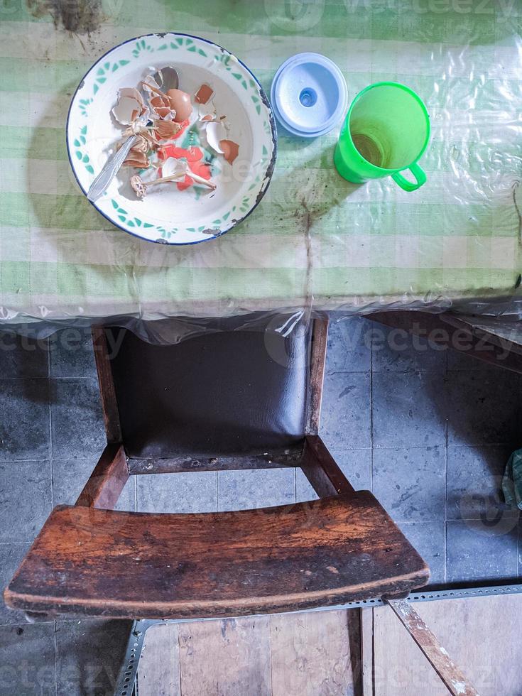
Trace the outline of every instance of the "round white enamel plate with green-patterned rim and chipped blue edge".
<instances>
[{"instance_id":1,"label":"round white enamel plate with green-patterned rim and chipped blue edge","mask_svg":"<svg viewBox=\"0 0 522 696\"><path fill-rule=\"evenodd\" d=\"M67 119L67 150L84 193L102 170L124 128L111 110L121 87L137 87L146 75L172 65L180 89L195 94L203 84L214 89L219 116L226 116L227 138L239 144L232 165L198 138L197 108L190 126L176 141L196 145L212 160L214 192L204 187L180 191L175 184L151 187L138 200L129 184L138 170L122 167L94 206L116 227L161 244L197 244L215 239L241 222L259 203L276 162L273 114L261 85L250 70L224 48L195 36L165 33L131 39L113 48L87 72L72 98Z\"/></svg>"}]
</instances>

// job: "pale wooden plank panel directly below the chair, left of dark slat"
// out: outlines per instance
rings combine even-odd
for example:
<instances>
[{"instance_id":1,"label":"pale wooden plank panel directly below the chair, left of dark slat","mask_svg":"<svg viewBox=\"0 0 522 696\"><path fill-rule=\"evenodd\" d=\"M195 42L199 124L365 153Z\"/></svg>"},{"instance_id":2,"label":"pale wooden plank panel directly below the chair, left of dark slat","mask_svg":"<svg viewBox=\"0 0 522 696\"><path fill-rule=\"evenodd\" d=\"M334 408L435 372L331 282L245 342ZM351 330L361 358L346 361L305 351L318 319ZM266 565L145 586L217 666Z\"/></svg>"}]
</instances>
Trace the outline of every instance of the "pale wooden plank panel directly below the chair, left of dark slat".
<instances>
[{"instance_id":1,"label":"pale wooden plank panel directly below the chair, left of dark slat","mask_svg":"<svg viewBox=\"0 0 522 696\"><path fill-rule=\"evenodd\" d=\"M360 671L359 611L191 621L160 629L147 631L140 696L359 693L359 678L352 676Z\"/></svg>"}]
</instances>

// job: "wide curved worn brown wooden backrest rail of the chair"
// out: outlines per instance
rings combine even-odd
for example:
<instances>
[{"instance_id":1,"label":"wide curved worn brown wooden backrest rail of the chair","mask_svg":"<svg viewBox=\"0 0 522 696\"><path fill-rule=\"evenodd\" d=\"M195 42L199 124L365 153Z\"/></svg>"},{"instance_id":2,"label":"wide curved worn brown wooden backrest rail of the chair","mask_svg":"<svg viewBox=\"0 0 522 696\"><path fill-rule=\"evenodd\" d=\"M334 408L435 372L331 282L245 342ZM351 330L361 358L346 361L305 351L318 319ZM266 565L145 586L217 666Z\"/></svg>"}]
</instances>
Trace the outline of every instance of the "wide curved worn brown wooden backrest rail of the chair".
<instances>
[{"instance_id":1,"label":"wide curved worn brown wooden backrest rail of the chair","mask_svg":"<svg viewBox=\"0 0 522 696\"><path fill-rule=\"evenodd\" d=\"M58 506L6 602L54 615L197 619L342 604L428 577L369 491L225 513Z\"/></svg>"}]
</instances>

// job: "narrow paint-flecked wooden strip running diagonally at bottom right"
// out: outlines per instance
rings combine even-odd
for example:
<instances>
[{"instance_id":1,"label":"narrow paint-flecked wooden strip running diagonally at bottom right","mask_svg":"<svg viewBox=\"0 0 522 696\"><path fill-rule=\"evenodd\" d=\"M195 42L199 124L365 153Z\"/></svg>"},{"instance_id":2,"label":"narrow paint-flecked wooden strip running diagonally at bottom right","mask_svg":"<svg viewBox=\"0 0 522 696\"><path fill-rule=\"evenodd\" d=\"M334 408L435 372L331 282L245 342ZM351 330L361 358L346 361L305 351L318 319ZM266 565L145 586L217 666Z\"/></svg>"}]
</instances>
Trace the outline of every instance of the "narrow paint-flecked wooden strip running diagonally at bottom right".
<instances>
[{"instance_id":1,"label":"narrow paint-flecked wooden strip running diagonally at bottom right","mask_svg":"<svg viewBox=\"0 0 522 696\"><path fill-rule=\"evenodd\" d=\"M386 599L453 696L479 696L407 599Z\"/></svg>"}]
</instances>

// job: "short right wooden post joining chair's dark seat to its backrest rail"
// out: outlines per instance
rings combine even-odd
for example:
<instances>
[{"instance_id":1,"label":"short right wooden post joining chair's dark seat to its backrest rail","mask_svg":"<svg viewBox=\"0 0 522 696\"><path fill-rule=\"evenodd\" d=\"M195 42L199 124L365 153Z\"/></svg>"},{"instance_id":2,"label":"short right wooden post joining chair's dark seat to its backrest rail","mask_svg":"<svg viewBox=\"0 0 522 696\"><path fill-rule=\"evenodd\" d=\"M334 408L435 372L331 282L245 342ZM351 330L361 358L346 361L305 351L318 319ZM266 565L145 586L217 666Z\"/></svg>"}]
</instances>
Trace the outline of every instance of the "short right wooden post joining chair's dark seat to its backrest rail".
<instances>
[{"instance_id":1,"label":"short right wooden post joining chair's dark seat to its backrest rail","mask_svg":"<svg viewBox=\"0 0 522 696\"><path fill-rule=\"evenodd\" d=\"M320 498L354 493L354 487L337 466L319 435L307 435L301 469Z\"/></svg>"}]
</instances>

